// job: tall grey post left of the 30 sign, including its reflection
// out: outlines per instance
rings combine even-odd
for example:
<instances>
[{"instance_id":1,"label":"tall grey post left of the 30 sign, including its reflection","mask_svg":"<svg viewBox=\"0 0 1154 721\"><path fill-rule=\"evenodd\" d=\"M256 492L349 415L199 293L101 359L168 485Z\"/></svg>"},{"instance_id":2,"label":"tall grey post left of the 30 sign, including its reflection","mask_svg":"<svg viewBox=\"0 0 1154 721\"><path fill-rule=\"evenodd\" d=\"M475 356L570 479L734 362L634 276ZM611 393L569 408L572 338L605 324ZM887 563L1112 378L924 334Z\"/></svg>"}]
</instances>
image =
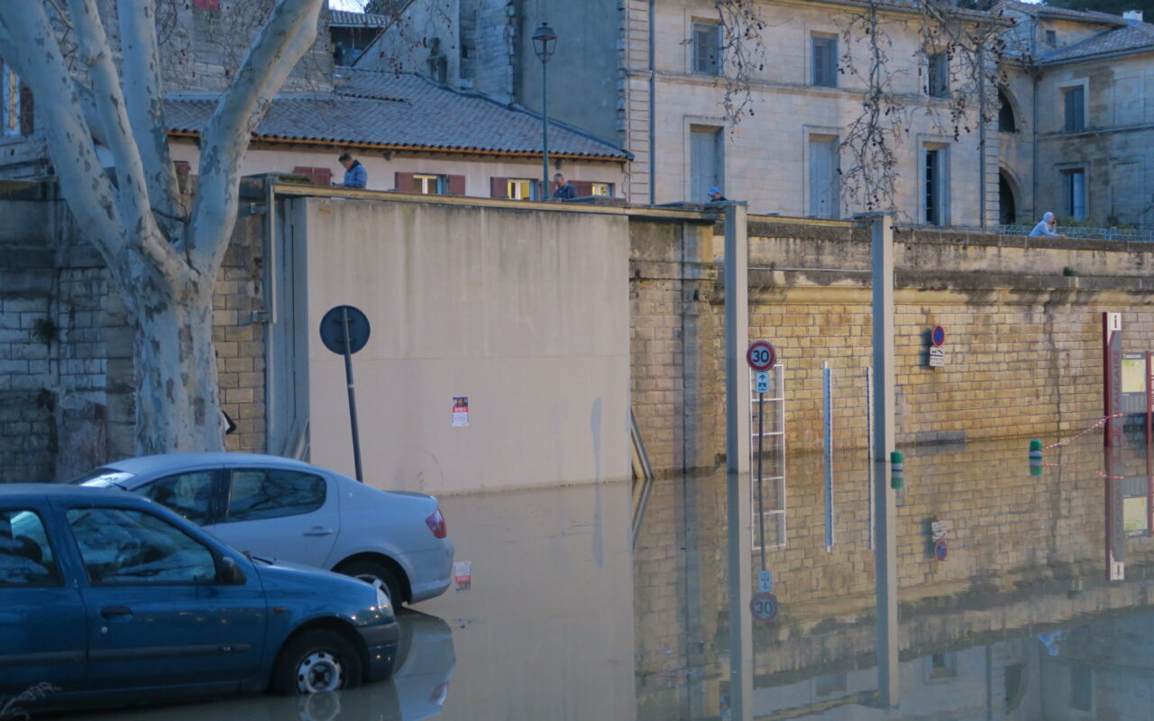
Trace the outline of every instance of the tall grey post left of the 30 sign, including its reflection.
<instances>
[{"instance_id":1,"label":"tall grey post left of the 30 sign, including its reflection","mask_svg":"<svg viewBox=\"0 0 1154 721\"><path fill-rule=\"evenodd\" d=\"M752 503L749 486L749 245L745 204L725 208L726 497L729 526L729 718L754 718Z\"/></svg>"}]
</instances>

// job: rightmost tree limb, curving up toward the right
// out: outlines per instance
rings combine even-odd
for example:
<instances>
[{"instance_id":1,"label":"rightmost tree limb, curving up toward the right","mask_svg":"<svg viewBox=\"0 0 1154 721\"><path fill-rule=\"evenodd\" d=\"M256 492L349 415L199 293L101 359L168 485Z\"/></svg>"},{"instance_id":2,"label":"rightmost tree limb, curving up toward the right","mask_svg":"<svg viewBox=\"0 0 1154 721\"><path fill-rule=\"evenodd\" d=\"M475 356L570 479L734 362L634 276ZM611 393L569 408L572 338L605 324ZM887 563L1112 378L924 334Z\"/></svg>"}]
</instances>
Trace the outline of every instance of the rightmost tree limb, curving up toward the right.
<instances>
[{"instance_id":1,"label":"rightmost tree limb, curving up toward the right","mask_svg":"<svg viewBox=\"0 0 1154 721\"><path fill-rule=\"evenodd\" d=\"M183 250L192 265L215 273L237 219L240 164L272 96L316 39L324 0L282 0L235 82L201 133L200 180Z\"/></svg>"}]
</instances>

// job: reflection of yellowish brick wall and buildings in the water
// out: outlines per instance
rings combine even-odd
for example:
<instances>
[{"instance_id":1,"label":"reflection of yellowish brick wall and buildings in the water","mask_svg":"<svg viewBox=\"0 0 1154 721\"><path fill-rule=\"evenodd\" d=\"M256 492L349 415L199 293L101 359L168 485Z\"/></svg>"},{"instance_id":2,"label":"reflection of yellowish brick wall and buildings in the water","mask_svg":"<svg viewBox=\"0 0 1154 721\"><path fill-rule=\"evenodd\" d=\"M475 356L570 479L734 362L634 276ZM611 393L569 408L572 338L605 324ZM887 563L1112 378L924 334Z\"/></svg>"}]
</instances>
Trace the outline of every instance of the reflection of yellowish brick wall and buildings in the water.
<instances>
[{"instance_id":1,"label":"reflection of yellowish brick wall and buildings in the water","mask_svg":"<svg viewBox=\"0 0 1154 721\"><path fill-rule=\"evenodd\" d=\"M754 624L755 718L1154 718L1148 704L1136 711L1149 682L1132 688L1154 671L1154 653L1141 651L1154 643L1146 581L1154 540L1138 521L1145 455L1123 449L1108 479L1101 443L1099 435L1055 449L1041 476L1029 473L1025 441L907 453L898 509L902 693L893 709L879 708L875 693L864 456L842 453L834 464L832 549L823 460L790 458L786 543L767 551L780 615ZM1125 509L1121 497L1141 503ZM727 718L725 479L659 485L650 504L672 523L644 530L635 559L637 718ZM944 561L934 554L935 527L945 528ZM1109 580L1108 543L1126 561L1125 580ZM662 564L666 572L654 573Z\"/></svg>"}]
</instances>

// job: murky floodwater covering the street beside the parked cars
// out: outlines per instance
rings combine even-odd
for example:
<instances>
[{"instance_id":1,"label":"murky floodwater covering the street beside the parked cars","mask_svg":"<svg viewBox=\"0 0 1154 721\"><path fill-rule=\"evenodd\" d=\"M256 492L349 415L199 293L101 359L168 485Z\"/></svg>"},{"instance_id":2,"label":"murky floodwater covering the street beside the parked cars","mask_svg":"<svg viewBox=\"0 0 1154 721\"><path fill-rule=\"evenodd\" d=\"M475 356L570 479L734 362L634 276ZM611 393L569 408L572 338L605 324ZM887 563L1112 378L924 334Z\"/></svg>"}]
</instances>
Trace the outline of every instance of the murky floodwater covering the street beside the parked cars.
<instances>
[{"instance_id":1,"label":"murky floodwater covering the street beside the parked cars","mask_svg":"<svg viewBox=\"0 0 1154 721\"><path fill-rule=\"evenodd\" d=\"M1025 440L907 451L893 707L876 692L864 451L834 453L831 495L822 457L790 457L784 485L763 487L765 528L755 515L751 534L765 538L752 589L764 565L778 601L774 618L750 624L754 718L1154 719L1142 441L1108 459L1089 433L1048 450L1040 475ZM659 479L636 549L630 494L599 483L443 498L472 583L402 614L387 683L66 718L728 719L725 474ZM1108 579L1108 547L1122 579Z\"/></svg>"}]
</instances>

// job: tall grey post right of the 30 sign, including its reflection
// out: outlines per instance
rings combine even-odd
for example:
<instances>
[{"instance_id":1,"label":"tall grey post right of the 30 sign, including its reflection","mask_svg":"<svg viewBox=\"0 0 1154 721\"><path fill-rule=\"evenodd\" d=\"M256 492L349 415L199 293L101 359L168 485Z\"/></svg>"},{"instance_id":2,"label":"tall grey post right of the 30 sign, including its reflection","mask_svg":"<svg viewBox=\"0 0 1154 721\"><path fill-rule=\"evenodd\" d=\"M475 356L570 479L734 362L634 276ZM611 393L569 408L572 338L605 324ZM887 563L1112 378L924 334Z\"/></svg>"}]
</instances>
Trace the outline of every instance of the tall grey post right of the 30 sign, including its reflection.
<instances>
[{"instance_id":1,"label":"tall grey post right of the 30 sign, including its reflection","mask_svg":"<svg viewBox=\"0 0 1154 721\"><path fill-rule=\"evenodd\" d=\"M890 486L894 450L893 221L870 217L874 262L874 566L877 580L877 690L882 704L900 700L898 666L898 504Z\"/></svg>"}]
</instances>

